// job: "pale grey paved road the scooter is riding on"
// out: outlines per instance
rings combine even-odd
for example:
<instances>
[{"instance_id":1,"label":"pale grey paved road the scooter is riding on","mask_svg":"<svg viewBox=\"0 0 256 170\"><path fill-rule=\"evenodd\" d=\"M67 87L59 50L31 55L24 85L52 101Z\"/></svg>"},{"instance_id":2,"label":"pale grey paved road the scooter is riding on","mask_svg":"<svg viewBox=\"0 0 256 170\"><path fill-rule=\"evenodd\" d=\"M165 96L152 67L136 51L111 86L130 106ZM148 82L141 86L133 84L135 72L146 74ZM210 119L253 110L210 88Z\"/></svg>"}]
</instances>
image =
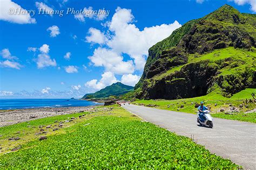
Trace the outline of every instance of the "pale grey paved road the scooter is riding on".
<instances>
[{"instance_id":1,"label":"pale grey paved road the scooter is riding on","mask_svg":"<svg viewBox=\"0 0 256 170\"><path fill-rule=\"evenodd\" d=\"M253 123L213 118L213 129L198 126L197 115L168 110L122 105L145 121L179 135L194 138L210 152L246 169L256 169L256 125Z\"/></svg>"}]
</instances>

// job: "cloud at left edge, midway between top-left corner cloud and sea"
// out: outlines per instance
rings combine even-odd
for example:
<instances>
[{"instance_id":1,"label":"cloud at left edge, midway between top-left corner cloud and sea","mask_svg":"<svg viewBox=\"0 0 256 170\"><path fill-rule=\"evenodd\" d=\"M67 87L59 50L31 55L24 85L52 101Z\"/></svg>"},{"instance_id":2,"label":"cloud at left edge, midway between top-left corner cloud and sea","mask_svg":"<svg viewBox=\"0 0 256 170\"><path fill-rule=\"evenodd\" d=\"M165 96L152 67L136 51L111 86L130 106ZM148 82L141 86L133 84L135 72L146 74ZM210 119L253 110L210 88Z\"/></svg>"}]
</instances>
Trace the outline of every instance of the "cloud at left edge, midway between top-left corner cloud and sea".
<instances>
[{"instance_id":1,"label":"cloud at left edge, midway between top-left corner cloud and sea","mask_svg":"<svg viewBox=\"0 0 256 170\"><path fill-rule=\"evenodd\" d=\"M16 56L12 56L8 48L2 49L0 55L3 59L7 59L0 61L0 67L21 69L22 65L16 61L18 58Z\"/></svg>"}]
</instances>

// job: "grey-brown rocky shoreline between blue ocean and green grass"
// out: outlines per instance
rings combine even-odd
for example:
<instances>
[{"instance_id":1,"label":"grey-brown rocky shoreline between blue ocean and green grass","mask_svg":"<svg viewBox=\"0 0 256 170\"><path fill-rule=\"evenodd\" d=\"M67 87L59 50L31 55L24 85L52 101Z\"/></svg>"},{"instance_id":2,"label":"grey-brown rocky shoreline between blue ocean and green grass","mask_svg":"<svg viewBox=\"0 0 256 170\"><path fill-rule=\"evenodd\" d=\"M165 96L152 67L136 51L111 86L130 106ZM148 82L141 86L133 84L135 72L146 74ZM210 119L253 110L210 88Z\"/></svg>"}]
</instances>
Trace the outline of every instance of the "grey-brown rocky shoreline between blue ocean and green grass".
<instances>
[{"instance_id":1,"label":"grey-brown rocky shoreline between blue ocean and green grass","mask_svg":"<svg viewBox=\"0 0 256 170\"><path fill-rule=\"evenodd\" d=\"M93 108L95 106L3 110L0 112L0 127L44 117L89 111Z\"/></svg>"}]
</instances>

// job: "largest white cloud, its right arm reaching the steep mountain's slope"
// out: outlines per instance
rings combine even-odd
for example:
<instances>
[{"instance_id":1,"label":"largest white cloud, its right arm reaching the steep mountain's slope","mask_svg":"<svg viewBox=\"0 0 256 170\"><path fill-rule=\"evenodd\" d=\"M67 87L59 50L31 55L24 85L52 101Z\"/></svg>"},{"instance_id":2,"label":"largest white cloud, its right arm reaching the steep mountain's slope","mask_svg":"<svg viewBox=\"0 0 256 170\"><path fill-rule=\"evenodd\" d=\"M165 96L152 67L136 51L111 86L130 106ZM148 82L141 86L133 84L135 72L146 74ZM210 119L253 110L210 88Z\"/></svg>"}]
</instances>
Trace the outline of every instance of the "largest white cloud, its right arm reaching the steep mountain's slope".
<instances>
[{"instance_id":1,"label":"largest white cloud, its right arm reaching the steep mountain's slope","mask_svg":"<svg viewBox=\"0 0 256 170\"><path fill-rule=\"evenodd\" d=\"M143 31L140 31L136 25L132 24L133 20L131 10L117 8L108 24L114 36L107 41L107 46L116 53L128 54L134 60L136 69L143 70L148 49L169 37L181 25L175 21L172 24L145 27Z\"/></svg>"}]
</instances>

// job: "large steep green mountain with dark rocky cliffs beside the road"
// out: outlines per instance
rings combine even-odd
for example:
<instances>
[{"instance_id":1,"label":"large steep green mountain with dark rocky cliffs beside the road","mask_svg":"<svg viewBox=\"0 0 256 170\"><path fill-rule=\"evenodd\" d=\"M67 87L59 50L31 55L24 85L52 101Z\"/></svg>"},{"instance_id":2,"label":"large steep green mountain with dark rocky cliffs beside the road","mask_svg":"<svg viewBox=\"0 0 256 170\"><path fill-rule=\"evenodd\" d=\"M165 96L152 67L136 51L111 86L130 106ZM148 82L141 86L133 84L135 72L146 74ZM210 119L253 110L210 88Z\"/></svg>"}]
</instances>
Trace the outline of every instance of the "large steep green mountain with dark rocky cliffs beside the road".
<instances>
[{"instance_id":1,"label":"large steep green mountain with dark rocky cliffs beside the road","mask_svg":"<svg viewBox=\"0 0 256 170\"><path fill-rule=\"evenodd\" d=\"M230 5L191 20L149 49L138 98L230 97L256 88L256 15Z\"/></svg>"}]
</instances>

